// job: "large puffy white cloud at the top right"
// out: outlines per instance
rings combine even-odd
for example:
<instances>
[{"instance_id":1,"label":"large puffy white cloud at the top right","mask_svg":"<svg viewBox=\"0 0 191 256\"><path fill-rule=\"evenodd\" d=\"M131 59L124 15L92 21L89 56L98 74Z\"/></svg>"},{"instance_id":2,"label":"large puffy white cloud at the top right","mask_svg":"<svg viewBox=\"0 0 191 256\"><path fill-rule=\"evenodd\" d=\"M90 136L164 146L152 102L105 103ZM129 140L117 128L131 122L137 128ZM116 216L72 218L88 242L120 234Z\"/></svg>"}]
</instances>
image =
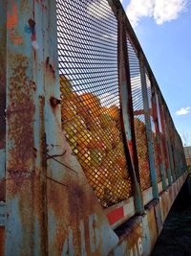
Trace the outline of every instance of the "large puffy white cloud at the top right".
<instances>
[{"instance_id":1,"label":"large puffy white cloud at the top right","mask_svg":"<svg viewBox=\"0 0 191 256\"><path fill-rule=\"evenodd\" d=\"M153 17L157 24L178 18L188 0L131 0L126 9L133 27L141 17Z\"/></svg>"}]
</instances>

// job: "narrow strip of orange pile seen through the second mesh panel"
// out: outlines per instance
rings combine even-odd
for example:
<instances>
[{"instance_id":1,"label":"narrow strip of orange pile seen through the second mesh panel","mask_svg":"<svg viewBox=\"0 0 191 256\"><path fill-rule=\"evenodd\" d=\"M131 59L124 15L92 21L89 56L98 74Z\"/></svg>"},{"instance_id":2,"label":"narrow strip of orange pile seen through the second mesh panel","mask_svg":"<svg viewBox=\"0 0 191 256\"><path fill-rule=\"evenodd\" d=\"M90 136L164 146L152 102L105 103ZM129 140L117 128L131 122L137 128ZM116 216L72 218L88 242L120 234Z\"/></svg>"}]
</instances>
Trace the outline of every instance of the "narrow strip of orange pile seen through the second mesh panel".
<instances>
[{"instance_id":1,"label":"narrow strip of orange pile seen through the second mesh panel","mask_svg":"<svg viewBox=\"0 0 191 256\"><path fill-rule=\"evenodd\" d=\"M140 187L141 190L145 190L151 186L151 177L149 169L149 156L147 150L147 137L145 125L143 122L136 118L134 120L136 142L138 151L138 169L140 175Z\"/></svg>"}]
</instances>

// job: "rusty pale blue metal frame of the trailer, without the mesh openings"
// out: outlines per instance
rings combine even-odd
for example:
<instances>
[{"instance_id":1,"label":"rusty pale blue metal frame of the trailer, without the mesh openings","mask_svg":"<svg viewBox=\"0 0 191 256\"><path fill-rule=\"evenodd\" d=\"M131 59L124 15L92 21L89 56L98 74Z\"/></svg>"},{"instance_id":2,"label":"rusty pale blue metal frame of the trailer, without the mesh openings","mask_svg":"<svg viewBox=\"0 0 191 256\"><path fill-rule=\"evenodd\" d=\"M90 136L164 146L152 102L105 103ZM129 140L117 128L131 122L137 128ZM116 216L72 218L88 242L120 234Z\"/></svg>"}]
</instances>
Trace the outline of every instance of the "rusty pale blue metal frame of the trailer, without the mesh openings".
<instances>
[{"instance_id":1,"label":"rusty pale blue metal frame of the trailer, without the mesh openings","mask_svg":"<svg viewBox=\"0 0 191 256\"><path fill-rule=\"evenodd\" d=\"M1 188L4 185L0 197L6 200L6 206L3 206L5 227L0 226L2 255L74 255L74 252L81 255L107 255L110 252L125 255L127 251L134 255L138 250L139 254L144 250L148 255L156 241L154 237L159 235L170 205L186 178L180 136L159 85L121 4L118 0L108 2L118 22L123 139L134 198L103 211L62 134L55 1L1 1L0 32L3 34L0 34L0 39L4 41L0 46L0 58L4 63L0 73L0 96L3 99L0 101L0 121L3 123L0 127ZM143 193L140 191L127 34L140 61L153 197L151 188ZM168 133L166 141L171 167L168 190L171 194L168 191L159 193L145 70L171 126L165 132ZM155 97L153 101L156 101ZM174 176L172 185L171 174ZM161 175L164 191L167 186L163 167ZM158 200L149 202L151 198ZM170 202L168 205L167 201ZM111 225L108 216L119 207L129 205L132 205L132 211ZM134 214L139 215L138 218L127 221ZM155 236L152 236L153 227ZM89 232L85 236L87 229ZM136 239L133 234L137 234Z\"/></svg>"}]
</instances>

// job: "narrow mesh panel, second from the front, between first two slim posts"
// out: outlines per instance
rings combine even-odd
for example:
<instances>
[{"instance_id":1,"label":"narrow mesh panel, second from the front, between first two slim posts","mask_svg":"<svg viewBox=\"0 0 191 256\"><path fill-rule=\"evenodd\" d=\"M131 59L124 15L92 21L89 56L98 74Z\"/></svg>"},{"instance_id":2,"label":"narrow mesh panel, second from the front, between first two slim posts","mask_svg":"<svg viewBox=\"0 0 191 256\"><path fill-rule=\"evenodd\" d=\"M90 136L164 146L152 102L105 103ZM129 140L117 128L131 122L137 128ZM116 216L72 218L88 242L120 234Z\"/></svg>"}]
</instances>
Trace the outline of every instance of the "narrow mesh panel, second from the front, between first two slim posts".
<instances>
[{"instance_id":1,"label":"narrow mesh panel, second from the front, between first two slim posts","mask_svg":"<svg viewBox=\"0 0 191 256\"><path fill-rule=\"evenodd\" d=\"M151 186L151 177L149 168L149 154L147 149L142 88L140 81L139 60L134 50L134 47L132 46L129 39L127 40L127 45L130 64L132 100L134 108L134 125L138 150L140 187L141 190L145 190Z\"/></svg>"}]
</instances>

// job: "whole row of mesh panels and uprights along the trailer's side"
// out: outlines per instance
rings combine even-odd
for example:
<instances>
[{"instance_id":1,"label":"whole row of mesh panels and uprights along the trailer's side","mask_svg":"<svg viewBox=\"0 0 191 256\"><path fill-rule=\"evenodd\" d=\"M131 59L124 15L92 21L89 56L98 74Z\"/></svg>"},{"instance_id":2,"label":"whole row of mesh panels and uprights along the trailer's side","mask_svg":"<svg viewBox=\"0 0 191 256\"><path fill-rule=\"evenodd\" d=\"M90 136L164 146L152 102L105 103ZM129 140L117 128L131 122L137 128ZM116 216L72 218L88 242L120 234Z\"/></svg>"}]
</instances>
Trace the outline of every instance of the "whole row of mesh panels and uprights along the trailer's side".
<instances>
[{"instance_id":1,"label":"whole row of mesh panels and uprights along the trailer's side","mask_svg":"<svg viewBox=\"0 0 191 256\"><path fill-rule=\"evenodd\" d=\"M62 128L96 197L108 207L151 186L158 197L183 150L119 1L56 5Z\"/></svg>"}]
</instances>

